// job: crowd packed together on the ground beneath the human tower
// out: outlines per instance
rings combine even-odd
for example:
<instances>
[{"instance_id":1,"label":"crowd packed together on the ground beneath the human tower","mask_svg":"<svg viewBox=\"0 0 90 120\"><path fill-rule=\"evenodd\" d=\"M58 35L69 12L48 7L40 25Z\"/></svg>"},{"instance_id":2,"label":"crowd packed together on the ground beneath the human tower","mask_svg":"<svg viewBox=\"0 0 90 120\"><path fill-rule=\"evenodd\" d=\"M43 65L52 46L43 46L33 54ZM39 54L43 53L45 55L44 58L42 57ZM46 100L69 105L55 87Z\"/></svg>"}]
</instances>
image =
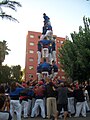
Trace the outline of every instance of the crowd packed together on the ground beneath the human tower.
<instances>
[{"instance_id":1,"label":"crowd packed together on the ground beneath the human tower","mask_svg":"<svg viewBox=\"0 0 90 120\"><path fill-rule=\"evenodd\" d=\"M8 90L7 90L8 88ZM64 117L86 117L90 111L90 84L46 80L12 82L10 87L0 85L0 120L34 118L58 120ZM4 116L4 117L3 117Z\"/></svg>"}]
</instances>

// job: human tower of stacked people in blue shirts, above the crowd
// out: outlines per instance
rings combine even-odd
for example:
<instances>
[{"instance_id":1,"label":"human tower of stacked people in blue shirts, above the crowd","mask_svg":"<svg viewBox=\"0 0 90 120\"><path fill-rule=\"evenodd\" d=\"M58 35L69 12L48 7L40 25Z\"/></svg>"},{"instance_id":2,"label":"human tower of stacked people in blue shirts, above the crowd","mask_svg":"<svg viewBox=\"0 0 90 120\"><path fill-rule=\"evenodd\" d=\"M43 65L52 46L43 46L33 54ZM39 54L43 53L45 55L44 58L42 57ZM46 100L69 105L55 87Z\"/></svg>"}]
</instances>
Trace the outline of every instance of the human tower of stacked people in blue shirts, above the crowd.
<instances>
[{"instance_id":1,"label":"human tower of stacked people in blue shirts, above the crowd","mask_svg":"<svg viewBox=\"0 0 90 120\"><path fill-rule=\"evenodd\" d=\"M41 79L41 77L54 77L58 73L58 67L55 64L56 62L56 44L55 40L56 38L53 36L53 29L51 26L50 18L46 15L46 13L43 14L44 19L44 25L42 27L42 35L39 38L38 41L38 66L37 66L37 75L38 80ZM53 65L54 67L53 68ZM56 69L57 70L54 70Z\"/></svg>"}]
</instances>

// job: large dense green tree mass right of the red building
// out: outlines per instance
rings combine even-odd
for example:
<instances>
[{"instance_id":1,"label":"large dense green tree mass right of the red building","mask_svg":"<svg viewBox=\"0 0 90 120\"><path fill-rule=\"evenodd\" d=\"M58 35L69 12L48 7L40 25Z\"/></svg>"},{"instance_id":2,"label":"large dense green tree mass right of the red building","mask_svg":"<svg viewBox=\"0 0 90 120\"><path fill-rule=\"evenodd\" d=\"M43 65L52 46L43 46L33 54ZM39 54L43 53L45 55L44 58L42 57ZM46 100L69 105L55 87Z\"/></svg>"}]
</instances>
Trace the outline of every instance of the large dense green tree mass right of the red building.
<instances>
[{"instance_id":1,"label":"large dense green tree mass right of the red building","mask_svg":"<svg viewBox=\"0 0 90 120\"><path fill-rule=\"evenodd\" d=\"M71 33L72 41L66 40L59 49L59 59L67 77L84 81L90 78L90 19L83 17L84 28Z\"/></svg>"}]
</instances>

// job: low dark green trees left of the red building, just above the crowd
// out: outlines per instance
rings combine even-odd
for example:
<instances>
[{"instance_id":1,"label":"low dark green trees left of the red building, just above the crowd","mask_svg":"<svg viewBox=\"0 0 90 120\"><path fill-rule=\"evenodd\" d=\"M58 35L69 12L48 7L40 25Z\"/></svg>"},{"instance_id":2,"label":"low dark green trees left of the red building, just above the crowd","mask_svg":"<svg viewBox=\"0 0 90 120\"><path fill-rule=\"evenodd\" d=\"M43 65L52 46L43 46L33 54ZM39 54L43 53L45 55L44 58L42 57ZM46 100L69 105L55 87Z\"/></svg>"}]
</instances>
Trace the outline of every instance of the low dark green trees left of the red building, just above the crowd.
<instances>
[{"instance_id":1,"label":"low dark green trees left of the red building, just above the crowd","mask_svg":"<svg viewBox=\"0 0 90 120\"><path fill-rule=\"evenodd\" d=\"M21 66L1 66L0 67L0 83L7 83L12 81L21 81Z\"/></svg>"}]
</instances>

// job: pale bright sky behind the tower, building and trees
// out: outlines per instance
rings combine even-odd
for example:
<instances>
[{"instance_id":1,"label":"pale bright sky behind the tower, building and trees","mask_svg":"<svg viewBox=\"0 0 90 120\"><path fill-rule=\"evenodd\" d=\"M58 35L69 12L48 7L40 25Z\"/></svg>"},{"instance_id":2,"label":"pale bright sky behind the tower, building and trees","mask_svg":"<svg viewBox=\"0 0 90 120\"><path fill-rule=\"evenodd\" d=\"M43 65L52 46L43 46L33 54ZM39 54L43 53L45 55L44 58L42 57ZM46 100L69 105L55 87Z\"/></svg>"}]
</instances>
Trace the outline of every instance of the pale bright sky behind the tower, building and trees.
<instances>
[{"instance_id":1,"label":"pale bright sky behind the tower, building and trees","mask_svg":"<svg viewBox=\"0 0 90 120\"><path fill-rule=\"evenodd\" d=\"M1 1L1 0L0 0ZM50 17L53 34L70 38L70 33L83 27L83 17L90 17L90 1L86 0L16 0L22 4L17 12L6 9L19 23L0 18L0 41L6 40L11 49L3 65L25 68L26 35L42 32L43 13Z\"/></svg>"}]
</instances>

